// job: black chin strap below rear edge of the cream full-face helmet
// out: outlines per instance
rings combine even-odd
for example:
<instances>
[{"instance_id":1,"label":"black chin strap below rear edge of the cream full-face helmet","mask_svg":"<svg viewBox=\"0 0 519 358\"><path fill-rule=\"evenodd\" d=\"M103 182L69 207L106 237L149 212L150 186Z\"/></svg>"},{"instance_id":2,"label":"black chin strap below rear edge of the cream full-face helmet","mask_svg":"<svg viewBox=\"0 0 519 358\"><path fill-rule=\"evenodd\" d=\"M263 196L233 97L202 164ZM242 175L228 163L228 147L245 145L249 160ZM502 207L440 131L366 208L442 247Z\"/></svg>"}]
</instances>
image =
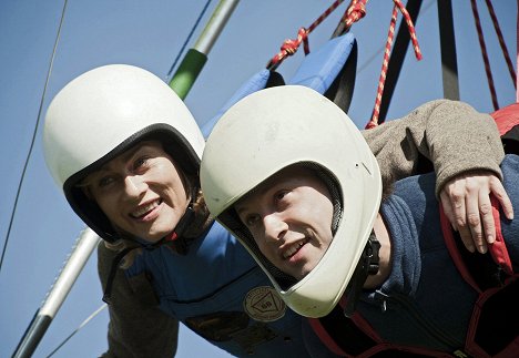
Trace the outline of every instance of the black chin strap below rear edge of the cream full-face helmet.
<instances>
[{"instance_id":1,"label":"black chin strap below rear edge of the cream full-face helmet","mask_svg":"<svg viewBox=\"0 0 519 358\"><path fill-rule=\"evenodd\" d=\"M378 242L375 232L372 231L363 255L360 256L357 267L355 268L355 273L349 280L348 287L346 288L347 296L346 306L344 307L344 315L348 318L350 318L355 313L360 291L363 290L364 283L366 282L367 277L378 273L379 249L380 243Z\"/></svg>"}]
</instances>

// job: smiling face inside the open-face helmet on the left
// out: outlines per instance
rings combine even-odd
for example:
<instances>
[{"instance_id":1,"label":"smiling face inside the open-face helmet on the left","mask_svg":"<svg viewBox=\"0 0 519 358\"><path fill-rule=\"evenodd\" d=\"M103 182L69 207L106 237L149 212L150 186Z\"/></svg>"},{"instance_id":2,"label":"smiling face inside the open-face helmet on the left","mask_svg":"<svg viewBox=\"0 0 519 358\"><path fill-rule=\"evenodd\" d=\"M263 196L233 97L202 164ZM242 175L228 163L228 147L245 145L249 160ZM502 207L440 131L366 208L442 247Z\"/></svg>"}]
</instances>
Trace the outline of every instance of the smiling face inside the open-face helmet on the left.
<instances>
[{"instance_id":1,"label":"smiling face inside the open-face helmet on the left","mask_svg":"<svg viewBox=\"0 0 519 358\"><path fill-rule=\"evenodd\" d=\"M180 168L157 141L133 146L83 183L113 226L152 243L175 228L190 201Z\"/></svg>"}]
</instances>

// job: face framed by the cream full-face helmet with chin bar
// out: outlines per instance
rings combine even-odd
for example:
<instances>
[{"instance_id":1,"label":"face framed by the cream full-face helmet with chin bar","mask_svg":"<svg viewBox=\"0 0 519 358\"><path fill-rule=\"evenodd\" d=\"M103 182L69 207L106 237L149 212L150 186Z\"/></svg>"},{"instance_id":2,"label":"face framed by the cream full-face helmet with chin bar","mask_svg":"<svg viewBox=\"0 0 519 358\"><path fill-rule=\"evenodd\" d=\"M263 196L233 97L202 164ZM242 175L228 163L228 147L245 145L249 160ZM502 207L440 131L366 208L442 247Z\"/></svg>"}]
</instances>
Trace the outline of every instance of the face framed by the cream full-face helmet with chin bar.
<instances>
[{"instance_id":1,"label":"face framed by the cream full-face helmet with chin bar","mask_svg":"<svg viewBox=\"0 0 519 358\"><path fill-rule=\"evenodd\" d=\"M263 255L297 279L319 263L333 238L328 188L304 166L279 171L240 200L235 209Z\"/></svg>"}]
</instances>

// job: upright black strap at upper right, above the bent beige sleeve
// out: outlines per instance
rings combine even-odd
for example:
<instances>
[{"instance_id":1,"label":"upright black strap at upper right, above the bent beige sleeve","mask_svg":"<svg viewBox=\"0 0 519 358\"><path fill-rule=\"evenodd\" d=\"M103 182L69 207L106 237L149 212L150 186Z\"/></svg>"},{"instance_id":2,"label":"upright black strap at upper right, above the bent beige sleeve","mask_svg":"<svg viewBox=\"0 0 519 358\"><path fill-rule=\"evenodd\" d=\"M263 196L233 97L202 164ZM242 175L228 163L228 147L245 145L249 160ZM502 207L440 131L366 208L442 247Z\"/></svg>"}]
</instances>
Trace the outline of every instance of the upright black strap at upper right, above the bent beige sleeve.
<instances>
[{"instance_id":1,"label":"upright black strap at upper right, above the bent beige sleeve","mask_svg":"<svg viewBox=\"0 0 519 358\"><path fill-rule=\"evenodd\" d=\"M459 101L458 62L456 57L452 4L450 0L438 0L438 24L441 48L444 98Z\"/></svg>"}]
</instances>

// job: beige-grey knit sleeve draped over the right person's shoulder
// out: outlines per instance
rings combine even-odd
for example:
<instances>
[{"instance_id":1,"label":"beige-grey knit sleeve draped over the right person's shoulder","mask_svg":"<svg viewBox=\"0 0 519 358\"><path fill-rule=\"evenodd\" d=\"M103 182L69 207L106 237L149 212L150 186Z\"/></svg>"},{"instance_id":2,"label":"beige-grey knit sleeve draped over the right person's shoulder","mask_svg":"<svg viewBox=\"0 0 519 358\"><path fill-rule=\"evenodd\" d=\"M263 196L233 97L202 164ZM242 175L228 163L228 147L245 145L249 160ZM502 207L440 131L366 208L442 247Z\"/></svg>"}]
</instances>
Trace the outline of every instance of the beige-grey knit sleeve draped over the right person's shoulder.
<instances>
[{"instance_id":1,"label":"beige-grey knit sleeve draped over the right person's shoulder","mask_svg":"<svg viewBox=\"0 0 519 358\"><path fill-rule=\"evenodd\" d=\"M428 102L398 121L363 131L363 135L384 180L416 174L420 155L430 160L437 196L450 178L464 172L488 170L502 178L499 164L505 152L496 122L462 102Z\"/></svg>"}]
</instances>

